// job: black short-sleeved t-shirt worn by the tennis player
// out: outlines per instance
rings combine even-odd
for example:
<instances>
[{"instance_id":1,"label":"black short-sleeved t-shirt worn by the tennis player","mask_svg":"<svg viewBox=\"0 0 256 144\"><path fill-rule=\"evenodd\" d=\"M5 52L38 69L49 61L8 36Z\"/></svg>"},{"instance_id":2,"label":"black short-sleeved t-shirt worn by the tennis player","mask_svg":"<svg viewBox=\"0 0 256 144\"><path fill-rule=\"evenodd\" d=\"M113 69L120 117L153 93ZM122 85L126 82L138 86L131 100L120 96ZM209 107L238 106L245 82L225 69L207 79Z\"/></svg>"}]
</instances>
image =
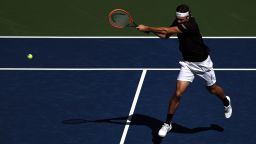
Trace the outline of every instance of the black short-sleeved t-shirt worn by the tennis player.
<instances>
[{"instance_id":1,"label":"black short-sleeved t-shirt worn by the tennis player","mask_svg":"<svg viewBox=\"0 0 256 144\"><path fill-rule=\"evenodd\" d=\"M199 27L195 18L190 17L188 22L178 24L174 20L171 26L178 26L182 33L178 33L180 42L179 49L182 53L183 60L190 62L202 62L209 55L209 48L204 44Z\"/></svg>"}]
</instances>

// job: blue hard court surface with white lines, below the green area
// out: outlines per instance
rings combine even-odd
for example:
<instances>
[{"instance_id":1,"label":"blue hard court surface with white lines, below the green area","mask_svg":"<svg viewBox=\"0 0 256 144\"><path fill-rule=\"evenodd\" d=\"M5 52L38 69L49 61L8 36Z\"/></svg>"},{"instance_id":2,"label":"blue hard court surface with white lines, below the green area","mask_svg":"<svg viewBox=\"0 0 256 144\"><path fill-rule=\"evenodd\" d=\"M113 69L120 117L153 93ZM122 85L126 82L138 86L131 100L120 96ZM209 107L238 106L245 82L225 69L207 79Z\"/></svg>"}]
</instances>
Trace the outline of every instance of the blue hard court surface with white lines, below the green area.
<instances>
[{"instance_id":1,"label":"blue hard court surface with white lines, below the green area","mask_svg":"<svg viewBox=\"0 0 256 144\"><path fill-rule=\"evenodd\" d=\"M233 115L196 78L157 136L179 70L177 39L0 39L2 144L253 144L255 38L205 38ZM32 53L32 60L26 54Z\"/></svg>"}]
</instances>

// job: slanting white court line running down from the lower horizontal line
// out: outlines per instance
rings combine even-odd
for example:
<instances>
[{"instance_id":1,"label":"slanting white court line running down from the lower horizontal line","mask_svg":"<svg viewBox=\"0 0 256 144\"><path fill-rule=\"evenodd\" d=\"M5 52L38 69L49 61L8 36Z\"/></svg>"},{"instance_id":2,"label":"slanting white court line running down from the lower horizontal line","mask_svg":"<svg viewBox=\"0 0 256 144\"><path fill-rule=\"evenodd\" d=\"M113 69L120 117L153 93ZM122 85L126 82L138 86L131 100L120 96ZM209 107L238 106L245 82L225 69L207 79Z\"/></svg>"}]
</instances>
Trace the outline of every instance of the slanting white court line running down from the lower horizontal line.
<instances>
[{"instance_id":1,"label":"slanting white court line running down from the lower horizontal line","mask_svg":"<svg viewBox=\"0 0 256 144\"><path fill-rule=\"evenodd\" d=\"M147 70L142 71L142 74L141 74L141 77L140 77L140 82L138 84L138 87L137 87L137 90L136 90L136 93L135 93L135 96L134 96L134 99L133 99L133 102L132 102L132 106L131 106L131 109L130 109L130 112L129 112L129 116L128 116L128 119L126 121L126 125L124 127L124 131L123 131L123 134L122 134L122 137L121 137L121 140L120 140L120 144L124 144L124 141L126 139L126 135L128 133L128 129L129 129L129 126L130 126L130 123L131 123L131 120L132 120L132 115L135 111L135 107L136 107L136 104L137 104L137 101L138 101L138 98L139 98L139 95L140 95L140 90L142 88L142 84L144 82L146 73L147 73Z\"/></svg>"}]
</instances>

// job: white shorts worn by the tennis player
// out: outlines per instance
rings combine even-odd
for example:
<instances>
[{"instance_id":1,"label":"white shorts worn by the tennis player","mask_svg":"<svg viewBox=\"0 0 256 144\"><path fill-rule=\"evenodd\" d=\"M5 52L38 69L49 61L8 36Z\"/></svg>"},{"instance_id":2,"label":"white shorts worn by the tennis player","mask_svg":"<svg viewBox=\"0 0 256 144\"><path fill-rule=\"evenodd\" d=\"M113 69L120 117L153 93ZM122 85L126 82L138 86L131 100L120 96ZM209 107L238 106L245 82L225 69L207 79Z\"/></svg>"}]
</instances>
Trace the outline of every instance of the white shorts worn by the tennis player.
<instances>
[{"instance_id":1,"label":"white shorts worn by the tennis player","mask_svg":"<svg viewBox=\"0 0 256 144\"><path fill-rule=\"evenodd\" d=\"M216 83L210 56L203 62L180 61L179 63L181 68L177 80L193 82L195 75L197 75L205 80L207 86L212 86Z\"/></svg>"}]
</instances>

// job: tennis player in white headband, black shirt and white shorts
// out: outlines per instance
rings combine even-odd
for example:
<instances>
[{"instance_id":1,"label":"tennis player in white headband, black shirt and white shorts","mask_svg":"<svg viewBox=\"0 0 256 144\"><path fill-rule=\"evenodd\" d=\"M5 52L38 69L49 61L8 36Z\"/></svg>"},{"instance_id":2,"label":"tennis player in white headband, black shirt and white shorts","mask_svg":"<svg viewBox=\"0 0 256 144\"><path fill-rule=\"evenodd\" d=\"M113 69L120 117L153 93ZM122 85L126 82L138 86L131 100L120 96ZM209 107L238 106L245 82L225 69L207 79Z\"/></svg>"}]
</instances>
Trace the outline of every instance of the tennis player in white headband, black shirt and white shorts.
<instances>
[{"instance_id":1,"label":"tennis player in white headband, black shirt and white shorts","mask_svg":"<svg viewBox=\"0 0 256 144\"><path fill-rule=\"evenodd\" d=\"M180 43L179 49L183 57L183 60L179 62L181 69L177 77L176 91L169 102L166 121L158 132L159 136L165 137L172 129L172 118L180 103L180 98L194 80L195 75L203 78L209 92L223 102L225 117L231 117L230 97L226 96L223 88L216 84L209 49L204 44L195 18L191 16L187 5L182 4L176 8L176 19L170 27L139 25L137 29L142 32L152 32L160 38L169 38L171 35L177 34Z\"/></svg>"}]
</instances>

